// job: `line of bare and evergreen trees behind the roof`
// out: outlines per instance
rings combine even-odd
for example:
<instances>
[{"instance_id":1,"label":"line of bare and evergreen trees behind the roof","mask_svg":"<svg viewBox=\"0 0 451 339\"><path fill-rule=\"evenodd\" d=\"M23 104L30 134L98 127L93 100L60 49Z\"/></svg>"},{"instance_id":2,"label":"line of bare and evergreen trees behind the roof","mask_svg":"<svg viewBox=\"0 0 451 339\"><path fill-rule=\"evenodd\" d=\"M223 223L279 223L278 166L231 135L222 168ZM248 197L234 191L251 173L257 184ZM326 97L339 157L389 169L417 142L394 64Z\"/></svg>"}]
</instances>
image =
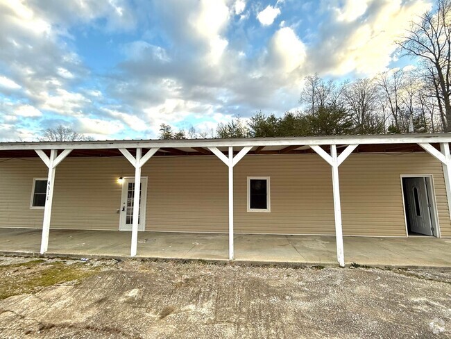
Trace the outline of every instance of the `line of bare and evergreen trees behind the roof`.
<instances>
[{"instance_id":1,"label":"line of bare and evergreen trees behind the roof","mask_svg":"<svg viewBox=\"0 0 451 339\"><path fill-rule=\"evenodd\" d=\"M341 83L312 74L300 90L302 110L235 117L201 133L162 124L160 139L450 132L450 18L451 0L439 0L396 42L416 67Z\"/></svg>"}]
</instances>

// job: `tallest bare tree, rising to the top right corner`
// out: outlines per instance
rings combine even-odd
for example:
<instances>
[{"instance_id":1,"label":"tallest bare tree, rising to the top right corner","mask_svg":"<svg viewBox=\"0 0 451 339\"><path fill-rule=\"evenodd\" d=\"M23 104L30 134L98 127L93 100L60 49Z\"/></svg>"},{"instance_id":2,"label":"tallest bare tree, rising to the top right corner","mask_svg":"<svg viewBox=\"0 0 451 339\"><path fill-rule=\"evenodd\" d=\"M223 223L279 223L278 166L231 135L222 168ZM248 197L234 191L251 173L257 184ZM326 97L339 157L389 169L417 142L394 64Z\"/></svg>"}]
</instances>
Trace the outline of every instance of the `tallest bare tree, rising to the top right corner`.
<instances>
[{"instance_id":1,"label":"tallest bare tree, rising to the top right corner","mask_svg":"<svg viewBox=\"0 0 451 339\"><path fill-rule=\"evenodd\" d=\"M451 131L451 0L438 0L399 42L409 56L422 58L434 78L438 105L443 105L443 129Z\"/></svg>"}]
</instances>

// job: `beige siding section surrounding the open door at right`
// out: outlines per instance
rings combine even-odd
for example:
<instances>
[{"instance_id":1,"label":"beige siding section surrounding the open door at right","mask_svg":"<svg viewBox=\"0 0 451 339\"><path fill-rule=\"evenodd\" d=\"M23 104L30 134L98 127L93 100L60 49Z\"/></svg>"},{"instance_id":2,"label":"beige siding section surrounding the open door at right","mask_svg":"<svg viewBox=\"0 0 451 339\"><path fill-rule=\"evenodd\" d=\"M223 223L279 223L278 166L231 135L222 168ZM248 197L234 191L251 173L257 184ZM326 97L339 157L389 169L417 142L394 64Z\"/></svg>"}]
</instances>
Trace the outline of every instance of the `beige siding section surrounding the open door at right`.
<instances>
[{"instance_id":1,"label":"beige siding section surrounding the open door at right","mask_svg":"<svg viewBox=\"0 0 451 339\"><path fill-rule=\"evenodd\" d=\"M451 236L443 167L429 154L352 154L340 166L343 233L405 235L401 174L432 174L442 236Z\"/></svg>"}]
</instances>

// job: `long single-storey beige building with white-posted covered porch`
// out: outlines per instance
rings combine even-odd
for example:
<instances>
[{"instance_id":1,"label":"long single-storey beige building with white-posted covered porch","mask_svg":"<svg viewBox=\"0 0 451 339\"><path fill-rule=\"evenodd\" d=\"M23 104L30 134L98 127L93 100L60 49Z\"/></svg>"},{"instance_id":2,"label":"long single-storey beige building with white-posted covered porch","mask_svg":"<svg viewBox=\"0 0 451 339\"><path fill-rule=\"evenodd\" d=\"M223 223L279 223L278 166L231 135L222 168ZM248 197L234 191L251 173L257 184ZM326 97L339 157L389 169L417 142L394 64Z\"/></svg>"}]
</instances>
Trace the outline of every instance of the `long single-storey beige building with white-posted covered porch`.
<instances>
[{"instance_id":1,"label":"long single-storey beige building with white-posted covered porch","mask_svg":"<svg viewBox=\"0 0 451 339\"><path fill-rule=\"evenodd\" d=\"M450 133L0 143L0 228L451 237ZM135 182L141 185L135 185ZM141 188L141 190L139 190ZM139 207L140 206L140 207ZM138 217L139 216L139 217Z\"/></svg>"}]
</instances>

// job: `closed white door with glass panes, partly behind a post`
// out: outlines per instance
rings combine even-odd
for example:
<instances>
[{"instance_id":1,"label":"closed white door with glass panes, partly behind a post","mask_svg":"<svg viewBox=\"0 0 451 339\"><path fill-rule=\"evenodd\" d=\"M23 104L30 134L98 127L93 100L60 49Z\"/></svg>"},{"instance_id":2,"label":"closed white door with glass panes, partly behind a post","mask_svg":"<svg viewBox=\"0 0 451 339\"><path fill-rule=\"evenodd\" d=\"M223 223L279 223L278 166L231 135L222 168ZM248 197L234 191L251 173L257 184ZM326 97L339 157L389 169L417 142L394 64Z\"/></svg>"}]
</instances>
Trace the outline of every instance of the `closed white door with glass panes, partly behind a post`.
<instances>
[{"instance_id":1,"label":"closed white door with glass panes, partly behind a post","mask_svg":"<svg viewBox=\"0 0 451 339\"><path fill-rule=\"evenodd\" d=\"M139 194L139 218L138 231L144 231L146 227L146 199L147 199L147 178L141 178ZM120 209L119 231L131 231L133 224L133 202L135 198L135 178L125 177L122 183L122 197Z\"/></svg>"}]
</instances>

